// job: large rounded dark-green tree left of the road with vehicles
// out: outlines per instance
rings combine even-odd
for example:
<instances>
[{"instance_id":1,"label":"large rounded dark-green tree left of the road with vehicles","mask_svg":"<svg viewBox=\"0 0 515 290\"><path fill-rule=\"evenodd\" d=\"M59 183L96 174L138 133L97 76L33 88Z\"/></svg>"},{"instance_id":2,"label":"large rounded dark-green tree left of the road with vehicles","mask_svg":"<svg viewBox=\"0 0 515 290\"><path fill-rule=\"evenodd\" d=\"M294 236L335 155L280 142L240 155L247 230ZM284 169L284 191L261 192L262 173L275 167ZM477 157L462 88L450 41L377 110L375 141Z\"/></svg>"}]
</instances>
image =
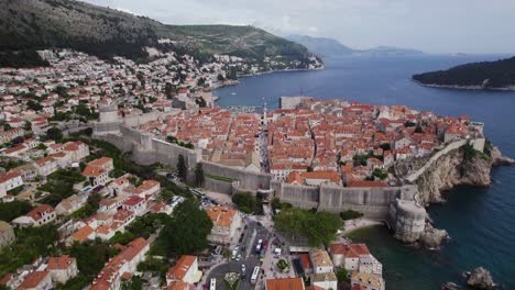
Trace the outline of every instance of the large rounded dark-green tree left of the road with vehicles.
<instances>
[{"instance_id":1,"label":"large rounded dark-green tree left of the road with vehicles","mask_svg":"<svg viewBox=\"0 0 515 290\"><path fill-rule=\"evenodd\" d=\"M160 244L168 256L193 254L208 247L211 219L195 200L187 199L174 210L172 221L165 225Z\"/></svg>"}]
</instances>

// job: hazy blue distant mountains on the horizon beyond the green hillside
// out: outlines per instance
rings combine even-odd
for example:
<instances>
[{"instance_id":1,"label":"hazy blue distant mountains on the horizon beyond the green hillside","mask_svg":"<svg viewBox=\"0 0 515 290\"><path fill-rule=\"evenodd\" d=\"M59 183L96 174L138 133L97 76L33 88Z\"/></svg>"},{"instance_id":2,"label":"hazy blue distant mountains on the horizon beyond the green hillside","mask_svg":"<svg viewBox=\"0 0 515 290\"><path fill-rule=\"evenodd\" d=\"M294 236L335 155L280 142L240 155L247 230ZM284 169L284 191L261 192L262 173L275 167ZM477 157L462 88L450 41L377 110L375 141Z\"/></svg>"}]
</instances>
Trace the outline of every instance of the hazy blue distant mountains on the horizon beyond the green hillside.
<instances>
[{"instance_id":1,"label":"hazy blue distant mountains on the horizon beyond the green hillside","mask_svg":"<svg viewBox=\"0 0 515 290\"><path fill-rule=\"evenodd\" d=\"M407 56L421 55L420 51L409 48L397 48L390 46L377 46L370 49L353 49L333 38L313 37L308 35L291 35L286 38L306 46L309 51L319 56L341 56L341 55L362 55L362 56Z\"/></svg>"}]
</instances>

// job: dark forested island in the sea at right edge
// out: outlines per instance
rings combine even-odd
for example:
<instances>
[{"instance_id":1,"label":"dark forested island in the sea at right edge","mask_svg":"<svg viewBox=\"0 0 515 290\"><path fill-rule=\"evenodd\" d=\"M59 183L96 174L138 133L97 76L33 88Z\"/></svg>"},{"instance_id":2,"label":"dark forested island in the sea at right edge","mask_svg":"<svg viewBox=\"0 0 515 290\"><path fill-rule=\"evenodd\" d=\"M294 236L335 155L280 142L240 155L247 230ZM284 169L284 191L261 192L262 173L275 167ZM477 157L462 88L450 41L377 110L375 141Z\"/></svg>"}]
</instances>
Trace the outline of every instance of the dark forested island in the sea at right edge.
<instances>
[{"instance_id":1,"label":"dark forested island in the sea at right edge","mask_svg":"<svg viewBox=\"0 0 515 290\"><path fill-rule=\"evenodd\" d=\"M429 87L515 90L515 57L460 65L447 70L414 75L412 78Z\"/></svg>"}]
</instances>

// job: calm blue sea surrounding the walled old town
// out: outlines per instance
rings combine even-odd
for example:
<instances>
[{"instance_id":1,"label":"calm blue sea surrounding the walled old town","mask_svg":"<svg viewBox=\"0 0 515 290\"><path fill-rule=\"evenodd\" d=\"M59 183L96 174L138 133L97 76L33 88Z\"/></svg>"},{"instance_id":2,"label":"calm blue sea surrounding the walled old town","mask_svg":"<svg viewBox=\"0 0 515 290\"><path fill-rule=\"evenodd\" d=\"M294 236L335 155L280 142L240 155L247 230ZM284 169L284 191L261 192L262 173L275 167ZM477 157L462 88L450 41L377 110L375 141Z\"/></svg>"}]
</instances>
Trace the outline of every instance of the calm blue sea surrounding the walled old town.
<instances>
[{"instance_id":1,"label":"calm blue sea surrounding the walled old town","mask_svg":"<svg viewBox=\"0 0 515 290\"><path fill-rule=\"evenodd\" d=\"M502 56L347 57L327 59L320 71L276 72L241 79L235 87L218 89L222 107L276 108L281 96L307 94L319 99L348 99L375 104L406 104L438 114L469 114L486 123L485 133L501 150L515 157L515 92L461 91L425 88L410 75ZM357 233L383 263L387 289L439 289L458 281L460 272L484 266L494 280L515 289L515 167L493 170L489 188L459 187L446 194L445 205L429 213L452 241L440 252L405 247L385 230Z\"/></svg>"}]
</instances>

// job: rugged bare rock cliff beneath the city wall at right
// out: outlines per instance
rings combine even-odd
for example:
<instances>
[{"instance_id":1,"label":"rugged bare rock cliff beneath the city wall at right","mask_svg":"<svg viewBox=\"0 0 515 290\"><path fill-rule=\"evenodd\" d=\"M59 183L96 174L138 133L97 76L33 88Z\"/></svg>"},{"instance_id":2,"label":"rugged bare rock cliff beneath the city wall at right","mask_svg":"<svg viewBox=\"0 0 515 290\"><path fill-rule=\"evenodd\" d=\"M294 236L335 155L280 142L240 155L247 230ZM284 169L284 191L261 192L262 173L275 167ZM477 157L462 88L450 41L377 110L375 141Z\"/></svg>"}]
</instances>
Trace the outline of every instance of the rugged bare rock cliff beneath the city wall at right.
<instances>
[{"instance_id":1,"label":"rugged bare rock cliff beneath the city wall at right","mask_svg":"<svg viewBox=\"0 0 515 290\"><path fill-rule=\"evenodd\" d=\"M419 201L424 204L442 202L441 191L458 185L489 186L493 166L513 163L496 147L492 148L490 156L479 152L470 156L463 149L452 150L441 156L417 179Z\"/></svg>"}]
</instances>

